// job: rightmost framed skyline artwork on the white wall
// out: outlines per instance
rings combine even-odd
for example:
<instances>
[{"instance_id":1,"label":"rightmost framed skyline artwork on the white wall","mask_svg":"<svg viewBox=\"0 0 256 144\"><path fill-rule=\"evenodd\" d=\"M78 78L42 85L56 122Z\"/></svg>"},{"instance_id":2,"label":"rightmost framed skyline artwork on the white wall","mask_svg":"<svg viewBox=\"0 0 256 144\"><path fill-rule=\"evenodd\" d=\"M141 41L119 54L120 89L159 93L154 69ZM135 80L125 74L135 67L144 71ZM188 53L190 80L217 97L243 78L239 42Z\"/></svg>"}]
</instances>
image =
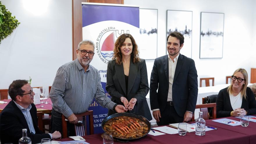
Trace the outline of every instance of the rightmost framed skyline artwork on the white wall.
<instances>
[{"instance_id":1,"label":"rightmost framed skyline artwork on the white wall","mask_svg":"<svg viewBox=\"0 0 256 144\"><path fill-rule=\"evenodd\" d=\"M223 57L224 13L201 12L200 58Z\"/></svg>"}]
</instances>

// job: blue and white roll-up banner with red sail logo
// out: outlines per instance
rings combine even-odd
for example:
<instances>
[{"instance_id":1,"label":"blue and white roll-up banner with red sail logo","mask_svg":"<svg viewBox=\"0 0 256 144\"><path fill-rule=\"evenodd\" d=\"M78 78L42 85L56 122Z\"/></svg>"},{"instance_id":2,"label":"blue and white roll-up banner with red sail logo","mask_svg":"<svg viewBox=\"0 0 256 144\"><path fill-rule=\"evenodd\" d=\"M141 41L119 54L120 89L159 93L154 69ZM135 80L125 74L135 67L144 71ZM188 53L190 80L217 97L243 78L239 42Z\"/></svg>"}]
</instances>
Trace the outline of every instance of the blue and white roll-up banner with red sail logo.
<instances>
[{"instance_id":1,"label":"blue and white roll-up banner with red sail logo","mask_svg":"<svg viewBox=\"0 0 256 144\"><path fill-rule=\"evenodd\" d=\"M82 3L83 40L95 43L95 55L90 65L99 71L102 88L106 96L106 74L108 62L113 57L116 39L123 33L130 33L139 39L139 7L107 3ZM93 110L94 133L102 133L102 120L108 109L100 106L95 99L89 110Z\"/></svg>"}]
</instances>

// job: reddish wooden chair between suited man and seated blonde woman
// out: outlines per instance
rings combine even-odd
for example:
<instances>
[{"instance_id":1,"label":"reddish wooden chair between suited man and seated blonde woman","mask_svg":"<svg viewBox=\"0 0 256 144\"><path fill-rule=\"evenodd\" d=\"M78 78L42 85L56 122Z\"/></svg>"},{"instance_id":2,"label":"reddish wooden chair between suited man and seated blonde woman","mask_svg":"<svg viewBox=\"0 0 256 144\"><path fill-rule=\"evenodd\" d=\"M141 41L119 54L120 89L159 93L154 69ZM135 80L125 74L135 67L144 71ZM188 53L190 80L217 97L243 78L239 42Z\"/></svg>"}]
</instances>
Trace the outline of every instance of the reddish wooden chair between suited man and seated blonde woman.
<instances>
[{"instance_id":1,"label":"reddish wooden chair between suited man and seated blonde woman","mask_svg":"<svg viewBox=\"0 0 256 144\"><path fill-rule=\"evenodd\" d=\"M213 108L213 111L212 111L212 118L216 118L216 103L211 103L211 104L197 104L195 106L195 109L200 109L200 111L203 112L203 119L205 120L209 120L209 116L208 116L208 109L207 108ZM193 113L192 115L192 119L191 121L195 121L195 115Z\"/></svg>"}]
</instances>

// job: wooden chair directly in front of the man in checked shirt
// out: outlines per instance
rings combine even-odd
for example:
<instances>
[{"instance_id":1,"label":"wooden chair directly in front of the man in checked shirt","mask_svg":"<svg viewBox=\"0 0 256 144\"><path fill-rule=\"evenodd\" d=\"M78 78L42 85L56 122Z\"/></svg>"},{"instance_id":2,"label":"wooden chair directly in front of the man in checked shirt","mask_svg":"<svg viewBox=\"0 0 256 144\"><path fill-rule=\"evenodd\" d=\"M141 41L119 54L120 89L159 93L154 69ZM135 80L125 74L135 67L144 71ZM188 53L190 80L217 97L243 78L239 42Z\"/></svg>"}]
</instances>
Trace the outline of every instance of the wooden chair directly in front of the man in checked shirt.
<instances>
[{"instance_id":1,"label":"wooden chair directly in front of the man in checked shirt","mask_svg":"<svg viewBox=\"0 0 256 144\"><path fill-rule=\"evenodd\" d=\"M77 119L78 120L81 120L83 119L83 116L89 116L89 129L90 129L90 134L93 134L93 111L86 111L84 113L80 113L80 114L75 114ZM67 137L67 121L65 120L65 116L62 115L62 138L66 138ZM86 119L85 119L85 125L86 125ZM74 125L76 127L76 125ZM75 128L74 127L74 128ZM86 125L86 128L88 127L88 125ZM79 135L77 134L77 131L76 131L76 135ZM80 136L85 136L87 135L87 131L86 129L84 129L84 133Z\"/></svg>"}]
</instances>

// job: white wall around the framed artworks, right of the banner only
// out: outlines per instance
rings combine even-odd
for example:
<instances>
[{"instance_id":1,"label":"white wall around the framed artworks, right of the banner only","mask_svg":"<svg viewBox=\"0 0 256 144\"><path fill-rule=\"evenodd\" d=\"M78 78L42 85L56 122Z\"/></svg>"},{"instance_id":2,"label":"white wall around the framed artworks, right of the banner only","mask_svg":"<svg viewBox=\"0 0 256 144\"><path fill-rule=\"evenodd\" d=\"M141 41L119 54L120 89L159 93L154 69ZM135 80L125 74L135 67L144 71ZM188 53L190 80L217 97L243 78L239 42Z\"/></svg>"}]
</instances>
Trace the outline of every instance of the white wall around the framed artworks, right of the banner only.
<instances>
[{"instance_id":1,"label":"white wall around the framed artworks, right of the banner only","mask_svg":"<svg viewBox=\"0 0 256 144\"><path fill-rule=\"evenodd\" d=\"M226 82L225 76L232 75L234 70L240 67L247 70L250 81L250 68L256 67L255 1L161 0L156 3L154 0L125 0L125 4L136 5L140 8L158 9L158 57L165 55L166 51L166 10L193 11L192 59L197 68L198 81L202 77L214 77L215 85L224 84ZM223 58L199 58L200 12L225 13ZM147 61L149 77L153 63L154 61Z\"/></svg>"}]
</instances>

